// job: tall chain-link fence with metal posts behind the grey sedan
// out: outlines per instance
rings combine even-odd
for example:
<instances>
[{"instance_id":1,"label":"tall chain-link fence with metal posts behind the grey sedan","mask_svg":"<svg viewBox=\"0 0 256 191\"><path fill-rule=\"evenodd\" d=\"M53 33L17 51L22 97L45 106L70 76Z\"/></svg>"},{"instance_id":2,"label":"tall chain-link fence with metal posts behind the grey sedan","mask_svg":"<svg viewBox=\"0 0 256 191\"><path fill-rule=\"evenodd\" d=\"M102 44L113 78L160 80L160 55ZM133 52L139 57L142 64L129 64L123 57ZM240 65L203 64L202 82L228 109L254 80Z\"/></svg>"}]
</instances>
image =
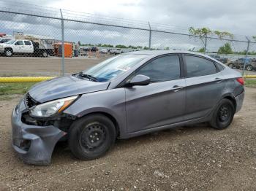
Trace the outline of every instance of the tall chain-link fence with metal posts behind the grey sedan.
<instances>
[{"instance_id":1,"label":"tall chain-link fence with metal posts behind the grey sedan","mask_svg":"<svg viewBox=\"0 0 256 191\"><path fill-rule=\"evenodd\" d=\"M256 42L247 36L202 37L185 28L12 1L0 1L0 20L1 76L71 74L121 52L148 49L205 52L230 67L256 69ZM221 48L233 53L219 54Z\"/></svg>"}]
</instances>

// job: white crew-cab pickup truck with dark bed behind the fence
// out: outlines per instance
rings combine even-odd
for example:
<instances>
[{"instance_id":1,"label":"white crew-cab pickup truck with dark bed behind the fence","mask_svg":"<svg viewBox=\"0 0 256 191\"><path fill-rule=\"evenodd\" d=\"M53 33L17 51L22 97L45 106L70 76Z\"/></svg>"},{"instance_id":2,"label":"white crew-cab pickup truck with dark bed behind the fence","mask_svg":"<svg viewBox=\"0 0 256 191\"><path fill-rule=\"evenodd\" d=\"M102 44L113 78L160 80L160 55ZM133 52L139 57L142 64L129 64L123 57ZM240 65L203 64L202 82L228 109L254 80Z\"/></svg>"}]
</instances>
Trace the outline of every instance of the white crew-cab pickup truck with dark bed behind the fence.
<instances>
[{"instance_id":1,"label":"white crew-cab pickup truck with dark bed behind the fence","mask_svg":"<svg viewBox=\"0 0 256 191\"><path fill-rule=\"evenodd\" d=\"M48 57L50 51L52 50L39 48L38 43L23 39L10 40L0 44L0 53L4 53L8 57L14 54Z\"/></svg>"}]
</instances>

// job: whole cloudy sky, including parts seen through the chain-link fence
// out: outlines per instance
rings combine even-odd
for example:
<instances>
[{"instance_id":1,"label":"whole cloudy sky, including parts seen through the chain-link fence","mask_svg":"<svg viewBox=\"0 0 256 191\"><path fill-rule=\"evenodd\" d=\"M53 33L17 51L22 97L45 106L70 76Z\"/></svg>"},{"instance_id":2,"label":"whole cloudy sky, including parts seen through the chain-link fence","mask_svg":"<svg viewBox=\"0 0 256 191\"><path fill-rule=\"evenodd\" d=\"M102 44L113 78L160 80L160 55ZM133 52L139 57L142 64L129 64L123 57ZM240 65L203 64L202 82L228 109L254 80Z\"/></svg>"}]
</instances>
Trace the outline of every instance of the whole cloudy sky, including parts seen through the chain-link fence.
<instances>
[{"instance_id":1,"label":"whole cloudy sky, including parts seen through the chain-link fence","mask_svg":"<svg viewBox=\"0 0 256 191\"><path fill-rule=\"evenodd\" d=\"M232 34L237 34L241 39L245 39L244 36L256 35L256 1L253 0L23 0L22 3L24 7L26 7L26 4L35 4L37 7L42 6L42 8L53 7L55 10L60 8L72 10L80 12L78 15L84 14L91 17L91 20L96 20L94 17L101 17L110 23L120 21L124 25L133 23L135 26L148 27L147 22L149 21L153 27L163 24L167 25L165 27L170 28L170 30L181 33L187 33L187 28L193 26L195 28L208 27L213 30L229 31ZM0 0L0 9L1 7L15 9L14 4L15 1ZM34 12L37 12L37 9L34 9ZM20 15L15 17L3 15L1 18L4 18L2 20L7 20L7 23L0 23L0 28L7 28L7 31L40 31L40 33L50 34L59 38L59 28L57 29L56 27L59 27L59 23L56 20L50 20L50 22L43 19L34 20L34 18ZM118 18L125 20L118 21ZM10 23L11 20L12 23ZM37 27L34 27L34 23L37 23ZM42 29L39 29L40 27ZM137 43L142 46L148 45L147 31L91 26L72 22L65 23L65 27L67 28L66 38L73 41L81 39L85 43ZM155 47L168 46L177 47L177 49L202 47L202 44L195 39L157 33L152 34L151 44ZM209 47L211 46L212 49L216 49L219 43L211 42ZM233 44L233 47L244 50L246 44Z\"/></svg>"}]
</instances>

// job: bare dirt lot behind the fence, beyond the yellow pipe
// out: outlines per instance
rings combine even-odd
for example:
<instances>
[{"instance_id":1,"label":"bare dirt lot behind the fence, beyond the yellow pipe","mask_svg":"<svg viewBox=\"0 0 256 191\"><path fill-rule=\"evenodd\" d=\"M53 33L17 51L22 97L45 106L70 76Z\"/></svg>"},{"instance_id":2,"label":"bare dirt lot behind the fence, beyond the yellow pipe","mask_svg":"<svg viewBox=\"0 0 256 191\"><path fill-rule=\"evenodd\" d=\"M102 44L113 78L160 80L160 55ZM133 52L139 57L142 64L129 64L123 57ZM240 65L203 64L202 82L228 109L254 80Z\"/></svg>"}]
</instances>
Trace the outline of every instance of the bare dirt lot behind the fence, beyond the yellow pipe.
<instances>
[{"instance_id":1,"label":"bare dirt lot behind the fence, beyond the yellow pipe","mask_svg":"<svg viewBox=\"0 0 256 191\"><path fill-rule=\"evenodd\" d=\"M97 58L65 58L67 74L88 69L96 63L109 58L110 55L100 55ZM242 72L241 70L238 70ZM0 77L9 76L59 76L61 74L61 58L33 58L33 57L0 57ZM246 74L256 74L256 71L246 71Z\"/></svg>"}]
</instances>

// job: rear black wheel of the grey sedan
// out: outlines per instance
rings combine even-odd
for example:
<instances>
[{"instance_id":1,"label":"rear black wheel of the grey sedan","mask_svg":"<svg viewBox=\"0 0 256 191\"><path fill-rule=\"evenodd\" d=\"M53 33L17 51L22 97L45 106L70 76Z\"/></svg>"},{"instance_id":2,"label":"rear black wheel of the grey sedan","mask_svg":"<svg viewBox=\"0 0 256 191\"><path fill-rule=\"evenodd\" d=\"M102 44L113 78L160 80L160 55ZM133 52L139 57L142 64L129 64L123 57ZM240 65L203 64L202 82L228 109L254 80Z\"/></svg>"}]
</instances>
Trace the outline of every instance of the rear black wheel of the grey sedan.
<instances>
[{"instance_id":1,"label":"rear black wheel of the grey sedan","mask_svg":"<svg viewBox=\"0 0 256 191\"><path fill-rule=\"evenodd\" d=\"M211 118L210 125L212 128L225 129L233 121L235 106L229 99L222 99Z\"/></svg>"}]
</instances>

